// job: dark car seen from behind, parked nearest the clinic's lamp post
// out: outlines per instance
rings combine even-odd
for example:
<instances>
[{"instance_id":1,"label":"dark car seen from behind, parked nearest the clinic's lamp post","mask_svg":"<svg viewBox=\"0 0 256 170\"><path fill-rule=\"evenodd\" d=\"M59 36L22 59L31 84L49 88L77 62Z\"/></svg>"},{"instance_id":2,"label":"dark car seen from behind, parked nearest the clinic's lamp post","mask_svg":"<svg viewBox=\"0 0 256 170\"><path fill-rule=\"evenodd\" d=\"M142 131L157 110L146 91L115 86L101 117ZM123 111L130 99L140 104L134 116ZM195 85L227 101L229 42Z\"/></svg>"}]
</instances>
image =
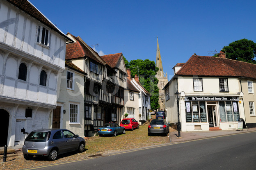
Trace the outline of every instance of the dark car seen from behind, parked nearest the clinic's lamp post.
<instances>
[{"instance_id":1,"label":"dark car seen from behind, parked nearest the clinic's lamp post","mask_svg":"<svg viewBox=\"0 0 256 170\"><path fill-rule=\"evenodd\" d=\"M151 120L149 127L148 127L148 134L149 136L151 134L165 134L166 136L168 135L170 129L169 129L169 124L165 119L153 119Z\"/></svg>"}]
</instances>

